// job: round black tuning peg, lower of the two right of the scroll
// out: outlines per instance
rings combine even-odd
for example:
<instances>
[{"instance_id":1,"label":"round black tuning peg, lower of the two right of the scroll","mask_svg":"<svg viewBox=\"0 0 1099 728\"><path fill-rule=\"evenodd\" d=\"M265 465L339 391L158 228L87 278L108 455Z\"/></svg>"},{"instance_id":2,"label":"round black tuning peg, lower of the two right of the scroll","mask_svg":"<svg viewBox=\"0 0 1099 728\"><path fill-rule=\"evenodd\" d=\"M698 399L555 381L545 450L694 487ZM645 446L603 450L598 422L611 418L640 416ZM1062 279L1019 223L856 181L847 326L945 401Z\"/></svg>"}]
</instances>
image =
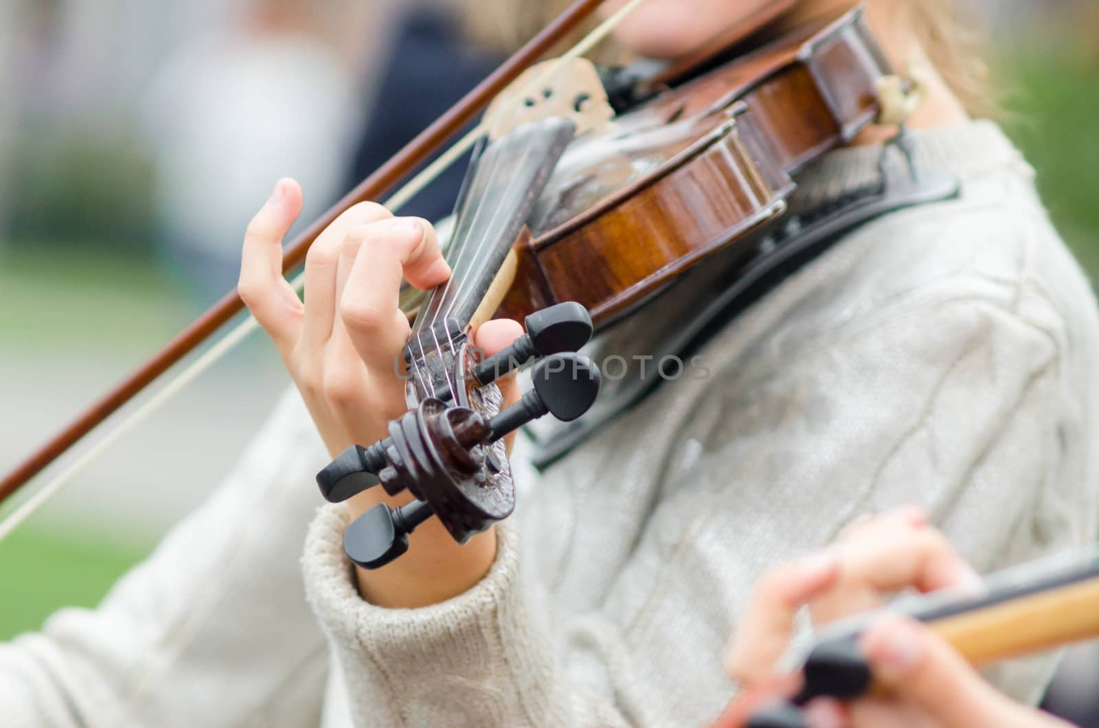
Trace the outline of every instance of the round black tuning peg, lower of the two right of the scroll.
<instances>
[{"instance_id":1,"label":"round black tuning peg, lower of the two right of the scroll","mask_svg":"<svg viewBox=\"0 0 1099 728\"><path fill-rule=\"evenodd\" d=\"M489 420L490 440L499 440L543 415L553 415L563 422L575 420L599 396L599 367L582 354L547 356L535 365L531 379L533 389Z\"/></svg>"}]
</instances>

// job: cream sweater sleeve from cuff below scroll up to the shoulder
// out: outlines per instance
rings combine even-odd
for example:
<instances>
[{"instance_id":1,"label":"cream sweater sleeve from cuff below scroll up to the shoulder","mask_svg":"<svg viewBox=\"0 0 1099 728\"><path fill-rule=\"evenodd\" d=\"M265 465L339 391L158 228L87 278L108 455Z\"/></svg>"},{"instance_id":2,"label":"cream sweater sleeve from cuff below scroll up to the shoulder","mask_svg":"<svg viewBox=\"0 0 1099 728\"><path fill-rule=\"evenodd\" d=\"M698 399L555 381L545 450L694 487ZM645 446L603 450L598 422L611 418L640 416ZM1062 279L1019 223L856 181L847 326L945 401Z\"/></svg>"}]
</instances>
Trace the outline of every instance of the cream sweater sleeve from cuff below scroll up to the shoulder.
<instances>
[{"instance_id":1,"label":"cream sweater sleeve from cuff below scroll up to the shoulder","mask_svg":"<svg viewBox=\"0 0 1099 728\"><path fill-rule=\"evenodd\" d=\"M807 192L877 154L829 155ZM306 582L356 725L701 726L732 695L722 650L761 573L863 514L919 503L981 570L1095 538L1088 285L995 125L918 134L917 158L954 169L962 198L857 229L541 476L520 439L519 511L469 594L371 607L340 511L318 518ZM597 359L645 352L717 268ZM1052 665L998 682L1033 701Z\"/></svg>"}]
</instances>

